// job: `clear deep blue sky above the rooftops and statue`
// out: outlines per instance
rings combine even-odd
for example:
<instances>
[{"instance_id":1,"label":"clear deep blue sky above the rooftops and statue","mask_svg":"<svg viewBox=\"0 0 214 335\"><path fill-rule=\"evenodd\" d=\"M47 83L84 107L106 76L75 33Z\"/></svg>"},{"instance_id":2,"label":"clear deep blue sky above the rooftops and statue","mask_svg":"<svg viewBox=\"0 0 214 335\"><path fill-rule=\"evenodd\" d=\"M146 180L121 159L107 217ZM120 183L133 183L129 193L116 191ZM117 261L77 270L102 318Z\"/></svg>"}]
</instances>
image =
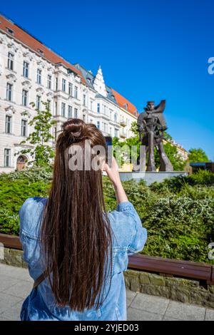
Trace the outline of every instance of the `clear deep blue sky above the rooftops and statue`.
<instances>
[{"instance_id":1,"label":"clear deep blue sky above the rooftops and statue","mask_svg":"<svg viewBox=\"0 0 214 335\"><path fill-rule=\"evenodd\" d=\"M1 13L143 110L166 99L168 133L214 161L213 0L4 1Z\"/></svg>"}]
</instances>

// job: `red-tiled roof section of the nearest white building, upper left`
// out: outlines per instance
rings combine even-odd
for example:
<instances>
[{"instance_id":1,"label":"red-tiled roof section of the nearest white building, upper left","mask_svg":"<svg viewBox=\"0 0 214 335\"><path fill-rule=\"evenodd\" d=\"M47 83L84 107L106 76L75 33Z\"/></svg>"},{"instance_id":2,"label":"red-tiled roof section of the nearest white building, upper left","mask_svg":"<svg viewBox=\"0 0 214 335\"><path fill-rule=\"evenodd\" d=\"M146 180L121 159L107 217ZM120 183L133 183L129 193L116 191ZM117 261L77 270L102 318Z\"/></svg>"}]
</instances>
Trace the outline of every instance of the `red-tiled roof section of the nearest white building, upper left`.
<instances>
[{"instance_id":1,"label":"red-tiled roof section of the nearest white building, upper left","mask_svg":"<svg viewBox=\"0 0 214 335\"><path fill-rule=\"evenodd\" d=\"M54 51L51 51L49 48L44 46L43 43L39 42L36 38L31 36L29 33L26 33L23 29L19 28L19 26L16 26L16 24L12 23L11 21L4 18L4 16L0 15L0 29L3 31L7 31L7 28L14 31L14 38L21 41L21 43L24 43L26 46L31 48L31 50L34 50L38 53L38 49L43 51L43 56L51 63L63 63L64 66L67 68L70 68L74 73L76 73L78 76L81 77L82 83L86 83L85 79L82 76L81 71L78 71L77 68L72 66L70 63L65 61L63 58L58 56Z\"/></svg>"}]
</instances>

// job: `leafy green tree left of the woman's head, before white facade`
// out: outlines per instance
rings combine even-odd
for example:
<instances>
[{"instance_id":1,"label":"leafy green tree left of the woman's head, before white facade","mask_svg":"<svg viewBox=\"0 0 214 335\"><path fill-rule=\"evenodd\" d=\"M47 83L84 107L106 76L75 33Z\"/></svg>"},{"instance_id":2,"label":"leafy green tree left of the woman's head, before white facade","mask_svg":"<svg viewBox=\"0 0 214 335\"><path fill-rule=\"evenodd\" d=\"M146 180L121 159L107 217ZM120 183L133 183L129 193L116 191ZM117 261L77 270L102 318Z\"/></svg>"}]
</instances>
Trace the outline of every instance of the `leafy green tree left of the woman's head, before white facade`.
<instances>
[{"instance_id":1,"label":"leafy green tree left of the woman's head, before white facade","mask_svg":"<svg viewBox=\"0 0 214 335\"><path fill-rule=\"evenodd\" d=\"M33 108L35 107L35 103L31 103L31 105ZM20 143L21 145L27 143L34 145L33 148L21 150L21 153L29 153L33 158L29 164L36 166L48 166L51 163L51 159L54 158L54 150L50 142L54 139L51 134L51 128L56 121L52 119L49 103L42 102L42 105L44 110L36 108L36 116L29 121L29 125L34 125L34 130L26 140Z\"/></svg>"}]
</instances>

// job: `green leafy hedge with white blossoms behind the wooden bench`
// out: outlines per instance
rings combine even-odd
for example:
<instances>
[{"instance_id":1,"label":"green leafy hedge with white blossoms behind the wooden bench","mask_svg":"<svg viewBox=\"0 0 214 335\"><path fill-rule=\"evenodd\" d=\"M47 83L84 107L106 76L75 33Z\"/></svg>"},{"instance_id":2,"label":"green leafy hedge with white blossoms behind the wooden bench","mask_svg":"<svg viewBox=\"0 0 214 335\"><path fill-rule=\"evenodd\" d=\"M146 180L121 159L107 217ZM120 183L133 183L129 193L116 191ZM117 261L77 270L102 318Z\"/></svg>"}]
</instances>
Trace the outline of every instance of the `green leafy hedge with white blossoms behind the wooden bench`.
<instances>
[{"instance_id":1,"label":"green leafy hedge with white blossoms behind the wooden bench","mask_svg":"<svg viewBox=\"0 0 214 335\"><path fill-rule=\"evenodd\" d=\"M0 175L0 232L19 234L19 209L28 197L46 197L50 170L29 169ZM214 242L214 175L198 172L173 177L147 187L123 182L128 199L148 230L143 254L208 262L208 244ZM111 182L103 177L107 210L116 207Z\"/></svg>"}]
</instances>

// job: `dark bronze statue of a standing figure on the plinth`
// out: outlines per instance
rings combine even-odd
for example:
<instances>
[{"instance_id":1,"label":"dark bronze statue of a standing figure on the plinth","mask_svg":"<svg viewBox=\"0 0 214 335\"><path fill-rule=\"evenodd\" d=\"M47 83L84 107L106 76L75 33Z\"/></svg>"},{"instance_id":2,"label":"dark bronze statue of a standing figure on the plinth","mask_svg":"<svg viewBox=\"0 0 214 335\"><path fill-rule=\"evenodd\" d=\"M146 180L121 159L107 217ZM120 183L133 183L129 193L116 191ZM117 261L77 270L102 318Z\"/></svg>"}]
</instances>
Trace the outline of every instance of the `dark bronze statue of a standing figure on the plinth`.
<instances>
[{"instance_id":1,"label":"dark bronze statue of a standing figure on the plinth","mask_svg":"<svg viewBox=\"0 0 214 335\"><path fill-rule=\"evenodd\" d=\"M148 154L148 163L146 171L156 171L154 148L158 149L160 156L160 171L173 171L173 165L170 163L163 148L163 132L167 129L163 110L165 109L165 100L155 106L154 101L148 101L144 112L138 116L138 131L142 145L146 146Z\"/></svg>"}]
</instances>

